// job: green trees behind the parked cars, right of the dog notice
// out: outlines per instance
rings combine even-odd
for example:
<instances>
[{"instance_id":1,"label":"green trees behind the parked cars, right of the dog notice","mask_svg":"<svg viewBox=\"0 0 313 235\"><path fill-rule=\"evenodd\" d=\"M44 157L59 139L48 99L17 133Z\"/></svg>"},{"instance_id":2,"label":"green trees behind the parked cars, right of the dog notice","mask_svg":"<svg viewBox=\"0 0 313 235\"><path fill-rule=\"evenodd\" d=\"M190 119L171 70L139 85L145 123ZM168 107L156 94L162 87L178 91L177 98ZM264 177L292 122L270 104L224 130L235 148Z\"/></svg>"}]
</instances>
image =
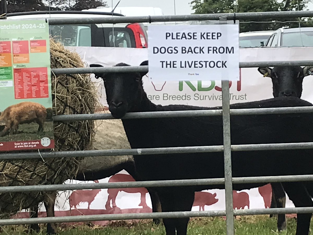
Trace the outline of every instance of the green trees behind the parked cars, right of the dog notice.
<instances>
[{"instance_id":1,"label":"green trees behind the parked cars, right of the dog notice","mask_svg":"<svg viewBox=\"0 0 313 235\"><path fill-rule=\"evenodd\" d=\"M206 13L233 13L233 12L268 12L268 11L294 11L305 9L309 0L193 0L192 9L195 14ZM285 21L298 21L299 18L272 18L240 20L240 32L275 30L283 26L296 27L299 23L280 23ZM260 23L257 23L260 22ZM261 23L266 22L266 23ZM310 26L311 22L302 22Z\"/></svg>"}]
</instances>

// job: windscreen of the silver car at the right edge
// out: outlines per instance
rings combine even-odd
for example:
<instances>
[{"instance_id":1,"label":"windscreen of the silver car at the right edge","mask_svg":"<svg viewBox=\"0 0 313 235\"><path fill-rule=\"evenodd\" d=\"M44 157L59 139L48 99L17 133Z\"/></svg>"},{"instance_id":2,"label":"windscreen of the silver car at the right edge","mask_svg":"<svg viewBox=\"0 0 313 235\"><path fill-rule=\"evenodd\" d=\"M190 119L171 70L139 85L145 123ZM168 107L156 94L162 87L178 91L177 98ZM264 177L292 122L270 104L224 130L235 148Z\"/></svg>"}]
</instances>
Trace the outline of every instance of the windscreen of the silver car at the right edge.
<instances>
[{"instance_id":1,"label":"windscreen of the silver car at the right edge","mask_svg":"<svg viewBox=\"0 0 313 235\"><path fill-rule=\"evenodd\" d=\"M313 46L313 31L281 34L282 46Z\"/></svg>"}]
</instances>

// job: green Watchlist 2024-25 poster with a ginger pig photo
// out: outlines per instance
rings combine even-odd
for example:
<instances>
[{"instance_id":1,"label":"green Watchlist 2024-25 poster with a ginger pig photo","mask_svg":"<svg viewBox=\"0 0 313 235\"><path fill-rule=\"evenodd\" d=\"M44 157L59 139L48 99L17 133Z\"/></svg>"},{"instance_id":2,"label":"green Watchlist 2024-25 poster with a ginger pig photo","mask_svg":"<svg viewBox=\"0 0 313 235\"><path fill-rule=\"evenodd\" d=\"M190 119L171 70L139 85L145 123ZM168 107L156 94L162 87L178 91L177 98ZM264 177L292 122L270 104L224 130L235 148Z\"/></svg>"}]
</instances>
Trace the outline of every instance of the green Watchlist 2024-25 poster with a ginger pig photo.
<instances>
[{"instance_id":1,"label":"green Watchlist 2024-25 poster with a ginger pig photo","mask_svg":"<svg viewBox=\"0 0 313 235\"><path fill-rule=\"evenodd\" d=\"M0 21L0 151L54 148L49 24Z\"/></svg>"}]
</instances>

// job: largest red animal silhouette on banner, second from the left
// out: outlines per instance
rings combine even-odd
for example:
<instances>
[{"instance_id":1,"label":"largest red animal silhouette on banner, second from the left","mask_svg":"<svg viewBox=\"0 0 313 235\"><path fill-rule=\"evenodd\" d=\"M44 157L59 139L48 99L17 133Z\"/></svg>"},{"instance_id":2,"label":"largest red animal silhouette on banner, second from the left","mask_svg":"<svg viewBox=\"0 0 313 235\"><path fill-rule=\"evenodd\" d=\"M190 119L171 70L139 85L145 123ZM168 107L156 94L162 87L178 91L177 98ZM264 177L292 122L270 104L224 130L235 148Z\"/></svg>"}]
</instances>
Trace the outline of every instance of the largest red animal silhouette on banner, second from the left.
<instances>
[{"instance_id":1,"label":"largest red animal silhouette on banner, second from the left","mask_svg":"<svg viewBox=\"0 0 313 235\"><path fill-rule=\"evenodd\" d=\"M112 175L109 179L109 183L112 182L132 182L135 181L131 175L127 174L115 174ZM126 193L140 193L141 194L141 202L138 206L142 206L143 208L148 207L146 204L146 193L148 192L146 188L118 188L118 189L108 189L108 200L105 203L105 209L110 210L110 202L112 200L113 209L116 208L115 199L119 191L124 191Z\"/></svg>"}]
</instances>

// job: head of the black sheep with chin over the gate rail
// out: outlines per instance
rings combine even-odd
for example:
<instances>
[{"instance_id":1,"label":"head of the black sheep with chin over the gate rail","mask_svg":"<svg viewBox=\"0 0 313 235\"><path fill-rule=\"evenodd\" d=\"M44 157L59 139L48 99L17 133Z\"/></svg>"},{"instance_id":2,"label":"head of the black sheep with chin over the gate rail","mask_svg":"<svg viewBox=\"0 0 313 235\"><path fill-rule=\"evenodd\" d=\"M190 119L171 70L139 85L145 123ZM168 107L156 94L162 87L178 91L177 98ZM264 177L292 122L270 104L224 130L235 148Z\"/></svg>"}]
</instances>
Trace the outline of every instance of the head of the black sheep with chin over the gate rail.
<instances>
[{"instance_id":1,"label":"head of the black sheep with chin over the gate rail","mask_svg":"<svg viewBox=\"0 0 313 235\"><path fill-rule=\"evenodd\" d=\"M148 61L140 65L148 65ZM119 63L118 66L130 66ZM102 67L102 65L90 65L90 67ZM122 118L126 112L134 111L140 102L142 88L142 77L147 72L115 72L115 73L95 73L96 78L102 78L105 86L106 100L109 111L114 118Z\"/></svg>"}]
</instances>

